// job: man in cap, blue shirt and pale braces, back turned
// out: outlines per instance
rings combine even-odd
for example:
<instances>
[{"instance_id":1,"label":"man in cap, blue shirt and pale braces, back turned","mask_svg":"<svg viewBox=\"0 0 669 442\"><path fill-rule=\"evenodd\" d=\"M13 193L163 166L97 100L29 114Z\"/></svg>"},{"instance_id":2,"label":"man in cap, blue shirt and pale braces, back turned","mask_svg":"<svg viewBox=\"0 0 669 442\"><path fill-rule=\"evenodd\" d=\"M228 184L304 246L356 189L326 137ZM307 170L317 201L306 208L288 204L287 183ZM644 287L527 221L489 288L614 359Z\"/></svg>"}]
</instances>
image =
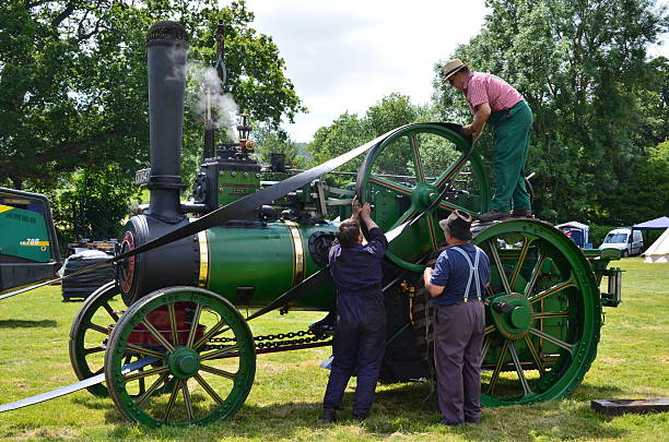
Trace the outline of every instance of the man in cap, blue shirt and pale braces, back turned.
<instances>
[{"instance_id":1,"label":"man in cap, blue shirt and pale braces, back turned","mask_svg":"<svg viewBox=\"0 0 669 442\"><path fill-rule=\"evenodd\" d=\"M490 260L470 242L472 217L456 210L439 222L448 249L423 273L432 297L434 359L443 423L478 422L481 416L481 346Z\"/></svg>"}]
</instances>

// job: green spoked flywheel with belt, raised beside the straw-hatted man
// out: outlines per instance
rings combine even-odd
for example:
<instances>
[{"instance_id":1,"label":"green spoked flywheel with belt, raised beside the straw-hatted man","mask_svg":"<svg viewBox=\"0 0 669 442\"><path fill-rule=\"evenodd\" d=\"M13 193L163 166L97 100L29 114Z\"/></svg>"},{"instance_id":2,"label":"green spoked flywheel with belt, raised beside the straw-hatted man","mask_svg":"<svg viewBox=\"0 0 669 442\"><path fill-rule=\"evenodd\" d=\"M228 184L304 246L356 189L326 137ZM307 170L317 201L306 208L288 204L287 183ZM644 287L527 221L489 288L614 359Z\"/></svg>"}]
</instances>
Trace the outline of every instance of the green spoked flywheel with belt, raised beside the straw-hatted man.
<instances>
[{"instance_id":1,"label":"green spoked flywheel with belt, raised beside the straw-hatted man","mask_svg":"<svg viewBox=\"0 0 669 442\"><path fill-rule=\"evenodd\" d=\"M355 193L375 205L374 219L386 231L424 212L445 183L453 182L438 206L390 244L386 256L396 264L415 270L411 261L436 250L444 240L438 220L450 211L480 214L488 208L490 190L481 162L476 154L465 159L470 147L454 124L419 123L397 131L367 154Z\"/></svg>"}]
</instances>

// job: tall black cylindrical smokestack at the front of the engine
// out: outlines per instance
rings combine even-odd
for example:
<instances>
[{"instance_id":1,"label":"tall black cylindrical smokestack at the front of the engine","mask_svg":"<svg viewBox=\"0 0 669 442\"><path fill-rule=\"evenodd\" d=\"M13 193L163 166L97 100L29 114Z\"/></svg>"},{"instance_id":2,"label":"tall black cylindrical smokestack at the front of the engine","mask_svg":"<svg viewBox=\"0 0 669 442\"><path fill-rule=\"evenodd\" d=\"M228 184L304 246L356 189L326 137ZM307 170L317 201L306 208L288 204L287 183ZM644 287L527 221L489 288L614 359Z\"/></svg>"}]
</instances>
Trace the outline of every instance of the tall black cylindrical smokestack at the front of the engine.
<instances>
[{"instance_id":1,"label":"tall black cylindrical smokestack at the front of the engine","mask_svg":"<svg viewBox=\"0 0 669 442\"><path fill-rule=\"evenodd\" d=\"M176 22L159 22L146 33L149 56L149 129L151 191L146 215L166 223L184 219L179 203L183 189L181 133L188 36Z\"/></svg>"}]
</instances>

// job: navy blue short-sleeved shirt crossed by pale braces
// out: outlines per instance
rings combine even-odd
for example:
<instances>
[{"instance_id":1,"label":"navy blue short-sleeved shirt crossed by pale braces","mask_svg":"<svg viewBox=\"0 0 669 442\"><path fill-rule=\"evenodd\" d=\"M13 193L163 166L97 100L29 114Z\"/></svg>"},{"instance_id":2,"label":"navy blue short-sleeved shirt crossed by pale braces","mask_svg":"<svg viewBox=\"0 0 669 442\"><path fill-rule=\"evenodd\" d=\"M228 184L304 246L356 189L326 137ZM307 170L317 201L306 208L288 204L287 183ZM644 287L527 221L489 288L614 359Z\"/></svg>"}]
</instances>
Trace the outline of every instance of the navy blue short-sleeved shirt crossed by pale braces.
<instances>
[{"instance_id":1,"label":"navy blue short-sleeved shirt crossed by pale braces","mask_svg":"<svg viewBox=\"0 0 669 442\"><path fill-rule=\"evenodd\" d=\"M456 247L467 253L472 264L476 260L478 247L472 243L454 246L439 254L434 266L432 279L430 280L434 285L444 286L444 291L432 298L432 302L437 306L453 306L465 298L470 267L465 256L457 250L453 250ZM479 267L477 271L479 272L481 299L485 299L485 285L490 282L490 260L483 250L481 250L479 256ZM468 299L477 299L474 275L471 278Z\"/></svg>"}]
</instances>

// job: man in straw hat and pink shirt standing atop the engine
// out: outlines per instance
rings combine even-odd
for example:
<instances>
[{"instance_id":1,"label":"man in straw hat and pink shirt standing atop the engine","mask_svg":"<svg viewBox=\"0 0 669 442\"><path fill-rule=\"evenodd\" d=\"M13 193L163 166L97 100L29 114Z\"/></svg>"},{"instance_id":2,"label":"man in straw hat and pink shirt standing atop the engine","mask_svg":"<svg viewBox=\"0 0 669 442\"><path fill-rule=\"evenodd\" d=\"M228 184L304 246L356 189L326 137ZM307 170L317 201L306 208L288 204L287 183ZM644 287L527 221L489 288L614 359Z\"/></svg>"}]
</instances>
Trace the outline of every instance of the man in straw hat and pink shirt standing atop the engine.
<instances>
[{"instance_id":1,"label":"man in straw hat and pink shirt standing atop the engine","mask_svg":"<svg viewBox=\"0 0 669 442\"><path fill-rule=\"evenodd\" d=\"M442 73L442 83L448 82L461 91L473 115L473 121L462 127L461 134L477 140L486 122L494 128L495 194L489 211L479 219L489 223L509 216L530 217L525 164L532 111L523 95L496 75L470 71L469 65L457 58L448 61Z\"/></svg>"}]
</instances>

